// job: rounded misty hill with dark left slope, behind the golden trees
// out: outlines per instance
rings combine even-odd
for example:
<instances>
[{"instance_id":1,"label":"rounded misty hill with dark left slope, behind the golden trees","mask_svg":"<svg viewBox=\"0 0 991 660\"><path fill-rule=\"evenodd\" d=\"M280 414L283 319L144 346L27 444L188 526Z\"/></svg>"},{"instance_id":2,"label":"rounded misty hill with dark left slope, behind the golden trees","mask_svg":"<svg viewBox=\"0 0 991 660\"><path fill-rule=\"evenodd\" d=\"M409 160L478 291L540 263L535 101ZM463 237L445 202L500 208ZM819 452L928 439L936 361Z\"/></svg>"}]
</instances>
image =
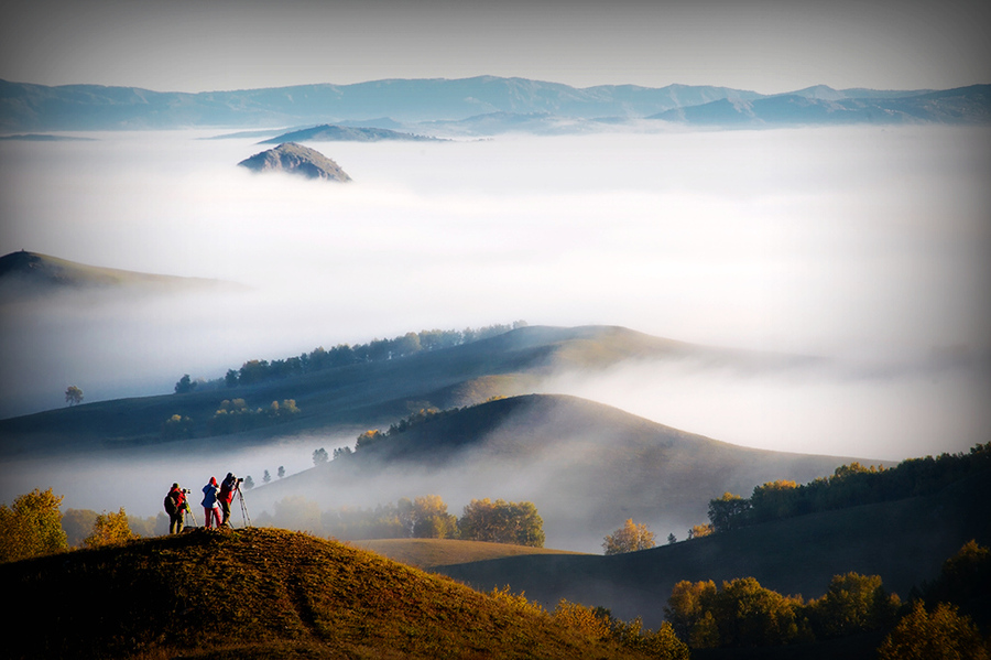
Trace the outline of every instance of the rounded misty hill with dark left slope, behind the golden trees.
<instances>
[{"instance_id":1,"label":"rounded misty hill with dark left slope, behind the golden trees","mask_svg":"<svg viewBox=\"0 0 991 660\"><path fill-rule=\"evenodd\" d=\"M602 538L627 518L661 538L684 538L726 491L749 496L775 479L809 482L851 461L740 447L585 399L532 394L435 415L255 488L250 499L268 511L290 497L324 510L425 494L456 507L484 497L532 501L547 547L600 552Z\"/></svg>"}]
</instances>

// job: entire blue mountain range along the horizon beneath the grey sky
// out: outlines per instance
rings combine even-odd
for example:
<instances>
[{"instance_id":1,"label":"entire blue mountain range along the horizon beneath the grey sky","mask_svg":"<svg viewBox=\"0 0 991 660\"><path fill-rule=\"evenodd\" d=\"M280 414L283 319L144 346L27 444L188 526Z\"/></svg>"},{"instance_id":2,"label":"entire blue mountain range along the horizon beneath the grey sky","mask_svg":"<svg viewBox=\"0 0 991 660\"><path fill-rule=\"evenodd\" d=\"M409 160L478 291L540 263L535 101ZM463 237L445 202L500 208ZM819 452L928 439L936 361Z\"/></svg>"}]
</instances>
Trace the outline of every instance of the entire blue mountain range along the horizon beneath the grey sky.
<instances>
[{"instance_id":1,"label":"entire blue mountain range along the horizon beneath the grey sky","mask_svg":"<svg viewBox=\"0 0 991 660\"><path fill-rule=\"evenodd\" d=\"M461 122L454 133L488 134L527 127L534 118L563 123L622 123L652 118L699 126L821 123L985 123L991 86L950 90L836 90L789 94L714 86L575 88L525 78L389 79L353 85L300 85L235 91L152 91L137 87L48 87L0 80L0 131L251 128L335 123L416 129ZM479 118L489 116L481 121ZM374 119L371 119L374 118ZM521 119L529 118L529 119ZM483 125L483 126L479 126ZM522 126L521 126L522 125ZM433 123L434 129L444 128Z\"/></svg>"}]
</instances>

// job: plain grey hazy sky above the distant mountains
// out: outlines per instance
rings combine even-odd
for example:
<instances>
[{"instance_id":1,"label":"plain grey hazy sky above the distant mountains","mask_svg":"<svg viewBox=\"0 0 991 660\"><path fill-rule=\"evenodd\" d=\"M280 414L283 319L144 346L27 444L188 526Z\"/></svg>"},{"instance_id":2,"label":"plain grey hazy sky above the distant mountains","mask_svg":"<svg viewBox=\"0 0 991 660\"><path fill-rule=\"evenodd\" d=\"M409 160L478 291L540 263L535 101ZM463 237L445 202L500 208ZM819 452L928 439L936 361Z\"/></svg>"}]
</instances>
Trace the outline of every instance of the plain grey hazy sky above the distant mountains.
<instances>
[{"instance_id":1,"label":"plain grey hazy sky above the distant mountains","mask_svg":"<svg viewBox=\"0 0 991 660\"><path fill-rule=\"evenodd\" d=\"M3 10L0 78L178 91L484 74L944 89L991 83L989 29L985 0L37 0Z\"/></svg>"}]
</instances>

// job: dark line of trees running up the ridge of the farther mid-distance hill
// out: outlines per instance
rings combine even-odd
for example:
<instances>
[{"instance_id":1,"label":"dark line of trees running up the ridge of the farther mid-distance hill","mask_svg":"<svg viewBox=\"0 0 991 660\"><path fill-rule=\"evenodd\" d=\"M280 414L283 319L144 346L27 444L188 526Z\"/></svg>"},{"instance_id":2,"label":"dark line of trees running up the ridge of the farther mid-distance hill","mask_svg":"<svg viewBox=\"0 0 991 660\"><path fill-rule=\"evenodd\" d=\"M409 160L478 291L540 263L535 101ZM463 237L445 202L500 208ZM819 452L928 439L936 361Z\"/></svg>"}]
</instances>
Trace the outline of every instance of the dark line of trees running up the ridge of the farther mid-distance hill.
<instances>
[{"instance_id":1,"label":"dark line of trees running up the ridge of the farther mid-distance hill","mask_svg":"<svg viewBox=\"0 0 991 660\"><path fill-rule=\"evenodd\" d=\"M211 381L193 380L186 374L175 383L175 392L183 394L197 389L235 388L277 380L300 374L322 371L334 367L390 360L423 350L437 350L461 344L470 344L471 342L494 337L524 326L526 326L525 321L515 321L511 325L496 324L480 328L466 327L462 331L435 328L420 331L418 333L409 332L392 339L372 339L367 344L356 344L353 346L338 344L329 350L319 346L309 353L303 353L298 356L274 360L248 360L241 365L240 369L228 369L224 378Z\"/></svg>"}]
</instances>

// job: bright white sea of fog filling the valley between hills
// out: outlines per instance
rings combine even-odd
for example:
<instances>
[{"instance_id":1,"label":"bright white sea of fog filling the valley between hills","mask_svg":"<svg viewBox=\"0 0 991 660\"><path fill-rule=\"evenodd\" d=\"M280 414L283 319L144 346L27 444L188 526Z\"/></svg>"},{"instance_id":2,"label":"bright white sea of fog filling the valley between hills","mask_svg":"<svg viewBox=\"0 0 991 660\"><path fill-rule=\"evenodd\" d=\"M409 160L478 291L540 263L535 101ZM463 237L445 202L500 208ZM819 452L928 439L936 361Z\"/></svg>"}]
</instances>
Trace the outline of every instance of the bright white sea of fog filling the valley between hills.
<instances>
[{"instance_id":1,"label":"bright white sea of fog filling the valley between hills","mask_svg":"<svg viewBox=\"0 0 991 660\"><path fill-rule=\"evenodd\" d=\"M988 441L987 128L308 144L347 185L251 174L236 164L265 147L203 139L219 132L0 142L0 253L246 286L3 305L0 415L64 405L69 385L86 401L167 393L251 358L525 320L825 358L623 365L542 386L718 440L885 459ZM221 445L215 465L115 474L167 487L177 470L202 483L235 467L260 482L349 440ZM3 501L51 473L68 506L127 505L104 464L98 488L68 484L90 474L81 464L4 470ZM151 490L128 500L137 512L157 510Z\"/></svg>"}]
</instances>

